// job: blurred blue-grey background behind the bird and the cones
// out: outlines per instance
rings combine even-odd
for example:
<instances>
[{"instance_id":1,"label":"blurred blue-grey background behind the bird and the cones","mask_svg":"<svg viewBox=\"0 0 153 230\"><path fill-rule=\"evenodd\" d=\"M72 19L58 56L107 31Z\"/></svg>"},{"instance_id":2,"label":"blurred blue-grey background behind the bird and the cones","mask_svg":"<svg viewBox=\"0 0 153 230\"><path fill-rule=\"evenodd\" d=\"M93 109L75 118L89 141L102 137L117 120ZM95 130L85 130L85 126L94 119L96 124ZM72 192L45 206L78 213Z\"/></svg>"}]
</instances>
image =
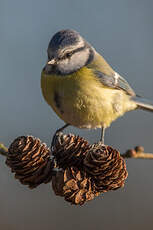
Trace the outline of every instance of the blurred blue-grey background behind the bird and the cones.
<instances>
[{"instance_id":1,"label":"blurred blue-grey background behind the bird and the cones","mask_svg":"<svg viewBox=\"0 0 153 230\"><path fill-rule=\"evenodd\" d=\"M40 74L52 35L80 32L137 94L153 101L152 0L0 0L0 142L31 134L50 144L63 125L44 101ZM100 130L68 128L96 142ZM121 152L143 145L153 152L153 114L127 113L106 132ZM35 190L16 181L0 158L0 229L153 229L153 161L127 160L123 189L83 207L56 197L51 185Z\"/></svg>"}]
</instances>

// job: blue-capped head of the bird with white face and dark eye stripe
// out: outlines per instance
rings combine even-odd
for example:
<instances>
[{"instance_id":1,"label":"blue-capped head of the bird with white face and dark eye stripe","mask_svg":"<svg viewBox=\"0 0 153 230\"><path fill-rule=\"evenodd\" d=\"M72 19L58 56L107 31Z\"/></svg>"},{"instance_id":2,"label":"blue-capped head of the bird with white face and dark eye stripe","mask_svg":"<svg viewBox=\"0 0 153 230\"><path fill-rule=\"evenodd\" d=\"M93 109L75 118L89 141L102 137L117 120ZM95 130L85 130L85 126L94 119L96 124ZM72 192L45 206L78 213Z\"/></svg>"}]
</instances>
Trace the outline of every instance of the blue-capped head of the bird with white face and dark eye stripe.
<instances>
[{"instance_id":1,"label":"blue-capped head of the bird with white face and dark eye stripe","mask_svg":"<svg viewBox=\"0 0 153 230\"><path fill-rule=\"evenodd\" d=\"M61 30L52 37L47 53L48 62L44 69L46 74L67 75L89 64L94 58L95 50L78 32L68 29Z\"/></svg>"}]
</instances>

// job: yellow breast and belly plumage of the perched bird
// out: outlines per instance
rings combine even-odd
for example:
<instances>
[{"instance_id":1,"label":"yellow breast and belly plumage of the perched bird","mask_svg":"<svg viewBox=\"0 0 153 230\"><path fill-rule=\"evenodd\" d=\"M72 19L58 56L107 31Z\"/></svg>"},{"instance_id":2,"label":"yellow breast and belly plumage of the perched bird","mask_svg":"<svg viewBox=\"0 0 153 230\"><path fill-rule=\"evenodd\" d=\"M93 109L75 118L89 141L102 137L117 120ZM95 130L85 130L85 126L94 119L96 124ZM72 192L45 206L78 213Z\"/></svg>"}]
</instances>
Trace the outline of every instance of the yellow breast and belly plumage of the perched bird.
<instances>
[{"instance_id":1,"label":"yellow breast and belly plumage of the perched bird","mask_svg":"<svg viewBox=\"0 0 153 230\"><path fill-rule=\"evenodd\" d=\"M86 67L67 76L42 72L41 87L45 100L57 115L79 128L108 127L136 107L128 95L103 86Z\"/></svg>"}]
</instances>

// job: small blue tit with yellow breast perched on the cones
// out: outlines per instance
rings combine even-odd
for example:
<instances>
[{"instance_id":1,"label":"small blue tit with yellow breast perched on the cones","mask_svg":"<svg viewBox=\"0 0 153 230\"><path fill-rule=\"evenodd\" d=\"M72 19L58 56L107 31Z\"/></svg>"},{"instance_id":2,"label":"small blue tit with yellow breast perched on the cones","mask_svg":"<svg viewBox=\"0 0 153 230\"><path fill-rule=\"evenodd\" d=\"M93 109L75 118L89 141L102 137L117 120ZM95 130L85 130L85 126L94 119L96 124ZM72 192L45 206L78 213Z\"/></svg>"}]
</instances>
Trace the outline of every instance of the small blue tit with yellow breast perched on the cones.
<instances>
[{"instance_id":1,"label":"small blue tit with yellow breast perched on the cones","mask_svg":"<svg viewBox=\"0 0 153 230\"><path fill-rule=\"evenodd\" d=\"M54 137L69 125L100 128L100 142L104 144L105 129L126 112L153 112L153 104L138 96L77 31L55 33L47 54L41 73L42 94L65 123Z\"/></svg>"}]
</instances>

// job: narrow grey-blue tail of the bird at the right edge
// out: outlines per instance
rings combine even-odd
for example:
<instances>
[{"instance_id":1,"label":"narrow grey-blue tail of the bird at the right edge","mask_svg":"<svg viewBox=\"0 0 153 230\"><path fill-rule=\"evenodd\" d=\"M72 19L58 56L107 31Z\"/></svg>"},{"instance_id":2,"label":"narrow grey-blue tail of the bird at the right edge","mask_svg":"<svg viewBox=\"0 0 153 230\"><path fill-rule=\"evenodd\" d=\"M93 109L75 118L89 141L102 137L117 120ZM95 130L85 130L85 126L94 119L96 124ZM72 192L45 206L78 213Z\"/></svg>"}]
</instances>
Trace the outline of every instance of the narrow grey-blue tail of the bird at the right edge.
<instances>
[{"instance_id":1,"label":"narrow grey-blue tail of the bird at the right edge","mask_svg":"<svg viewBox=\"0 0 153 230\"><path fill-rule=\"evenodd\" d=\"M133 100L136 102L138 109L153 112L153 103L139 96L133 98Z\"/></svg>"}]
</instances>

